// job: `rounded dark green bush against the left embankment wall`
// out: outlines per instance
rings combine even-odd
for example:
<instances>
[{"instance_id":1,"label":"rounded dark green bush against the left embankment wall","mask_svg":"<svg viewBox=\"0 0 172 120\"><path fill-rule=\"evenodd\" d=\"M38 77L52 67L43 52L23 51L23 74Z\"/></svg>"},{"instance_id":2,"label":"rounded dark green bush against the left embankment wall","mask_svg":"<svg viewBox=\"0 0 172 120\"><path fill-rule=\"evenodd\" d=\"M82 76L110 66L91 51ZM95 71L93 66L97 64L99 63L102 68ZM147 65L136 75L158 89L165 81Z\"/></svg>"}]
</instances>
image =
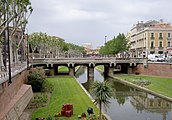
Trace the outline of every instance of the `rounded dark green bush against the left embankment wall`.
<instances>
[{"instance_id":1,"label":"rounded dark green bush against the left embankment wall","mask_svg":"<svg viewBox=\"0 0 172 120\"><path fill-rule=\"evenodd\" d=\"M40 92L43 89L45 78L45 71L42 67L32 68L29 71L28 84L32 85L34 92Z\"/></svg>"}]
</instances>

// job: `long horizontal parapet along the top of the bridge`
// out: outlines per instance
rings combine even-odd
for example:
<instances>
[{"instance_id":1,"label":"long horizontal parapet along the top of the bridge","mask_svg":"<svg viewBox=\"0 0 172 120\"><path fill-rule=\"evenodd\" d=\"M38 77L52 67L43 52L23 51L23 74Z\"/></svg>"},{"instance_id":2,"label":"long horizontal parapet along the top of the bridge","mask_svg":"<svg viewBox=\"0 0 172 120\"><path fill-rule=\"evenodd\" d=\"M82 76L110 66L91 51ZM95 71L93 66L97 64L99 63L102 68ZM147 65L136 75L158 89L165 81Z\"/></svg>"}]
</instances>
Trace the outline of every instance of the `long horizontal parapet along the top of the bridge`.
<instances>
[{"instance_id":1,"label":"long horizontal parapet along the top of the bridge","mask_svg":"<svg viewBox=\"0 0 172 120\"><path fill-rule=\"evenodd\" d=\"M129 63L136 65L137 63L147 64L147 58L104 58L104 57L80 57L80 58L33 58L30 63L34 64L110 64Z\"/></svg>"}]
</instances>

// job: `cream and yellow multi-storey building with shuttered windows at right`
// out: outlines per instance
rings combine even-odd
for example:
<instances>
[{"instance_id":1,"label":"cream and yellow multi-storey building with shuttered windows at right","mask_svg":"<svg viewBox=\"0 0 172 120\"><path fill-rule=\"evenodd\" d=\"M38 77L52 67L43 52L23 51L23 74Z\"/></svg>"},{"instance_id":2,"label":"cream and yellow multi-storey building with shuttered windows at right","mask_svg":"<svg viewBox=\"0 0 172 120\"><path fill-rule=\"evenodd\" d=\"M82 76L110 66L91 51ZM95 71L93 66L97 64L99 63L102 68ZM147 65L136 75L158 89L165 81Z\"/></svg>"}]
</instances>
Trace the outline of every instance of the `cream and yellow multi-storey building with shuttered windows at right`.
<instances>
[{"instance_id":1,"label":"cream and yellow multi-storey building with shuttered windows at right","mask_svg":"<svg viewBox=\"0 0 172 120\"><path fill-rule=\"evenodd\" d=\"M147 57L149 54L167 55L172 47L172 26L151 20L134 24L127 35L131 57Z\"/></svg>"}]
</instances>

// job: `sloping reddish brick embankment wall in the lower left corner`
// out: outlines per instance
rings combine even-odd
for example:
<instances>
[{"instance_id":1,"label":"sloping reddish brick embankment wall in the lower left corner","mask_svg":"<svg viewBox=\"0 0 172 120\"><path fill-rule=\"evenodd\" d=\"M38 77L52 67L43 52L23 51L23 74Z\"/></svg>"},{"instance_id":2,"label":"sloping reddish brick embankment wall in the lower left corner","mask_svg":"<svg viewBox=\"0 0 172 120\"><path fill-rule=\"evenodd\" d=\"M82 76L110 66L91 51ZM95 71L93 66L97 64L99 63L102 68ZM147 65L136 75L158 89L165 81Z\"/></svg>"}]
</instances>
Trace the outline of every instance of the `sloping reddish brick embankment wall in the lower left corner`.
<instances>
[{"instance_id":1,"label":"sloping reddish brick embankment wall in the lower left corner","mask_svg":"<svg viewBox=\"0 0 172 120\"><path fill-rule=\"evenodd\" d=\"M22 115L33 96L32 88L26 85L27 69L12 75L12 83L8 80L0 87L0 120L17 120Z\"/></svg>"}]
</instances>

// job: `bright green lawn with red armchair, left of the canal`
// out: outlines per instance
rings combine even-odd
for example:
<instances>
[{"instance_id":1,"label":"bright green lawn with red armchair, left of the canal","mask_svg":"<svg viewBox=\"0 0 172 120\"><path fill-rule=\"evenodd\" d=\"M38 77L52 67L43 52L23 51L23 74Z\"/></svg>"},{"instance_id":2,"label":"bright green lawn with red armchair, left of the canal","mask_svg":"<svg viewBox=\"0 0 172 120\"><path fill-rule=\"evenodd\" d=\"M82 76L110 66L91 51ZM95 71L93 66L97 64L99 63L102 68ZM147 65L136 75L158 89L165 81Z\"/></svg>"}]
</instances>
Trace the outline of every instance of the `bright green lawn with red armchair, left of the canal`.
<instances>
[{"instance_id":1,"label":"bright green lawn with red armchair, left of the canal","mask_svg":"<svg viewBox=\"0 0 172 120\"><path fill-rule=\"evenodd\" d=\"M32 114L32 120L38 117L47 118L48 115L54 116L61 111L63 104L73 104L74 115L72 117L61 117L67 120L75 120L78 115L83 112L86 113L88 107L92 107L96 114L98 108L93 104L91 99L82 90L81 86L77 83L75 78L69 76L60 76L55 78L47 78L48 82L54 85L50 103L43 108L35 110Z\"/></svg>"}]
</instances>

